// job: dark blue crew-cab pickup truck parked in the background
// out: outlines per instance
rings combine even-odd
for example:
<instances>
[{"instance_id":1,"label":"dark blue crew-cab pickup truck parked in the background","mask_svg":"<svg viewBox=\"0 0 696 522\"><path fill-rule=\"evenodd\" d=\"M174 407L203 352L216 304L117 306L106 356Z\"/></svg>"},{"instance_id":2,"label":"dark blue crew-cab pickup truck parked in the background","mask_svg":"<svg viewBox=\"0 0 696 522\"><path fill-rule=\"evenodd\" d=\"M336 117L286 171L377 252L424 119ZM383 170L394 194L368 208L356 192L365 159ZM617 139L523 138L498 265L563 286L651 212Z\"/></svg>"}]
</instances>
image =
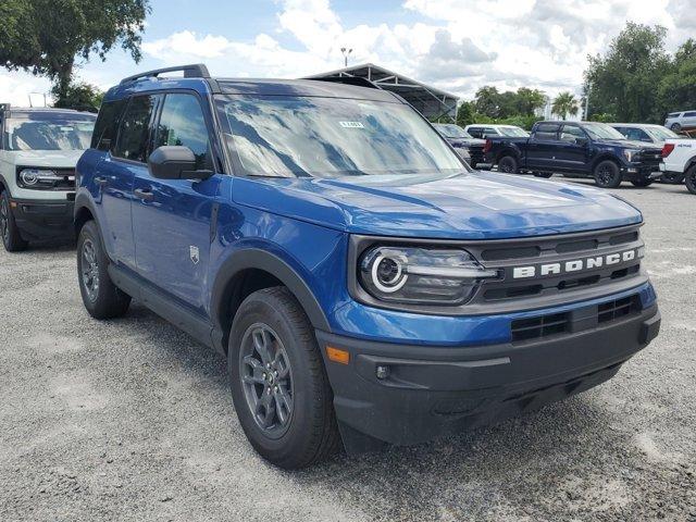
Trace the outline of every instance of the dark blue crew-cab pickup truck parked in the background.
<instances>
[{"instance_id":1,"label":"dark blue crew-cab pickup truck parked in the background","mask_svg":"<svg viewBox=\"0 0 696 522\"><path fill-rule=\"evenodd\" d=\"M537 122L529 138L488 138L484 151L500 172L594 177L605 188L623 181L647 187L661 160L659 148L597 122Z\"/></svg>"}]
</instances>

